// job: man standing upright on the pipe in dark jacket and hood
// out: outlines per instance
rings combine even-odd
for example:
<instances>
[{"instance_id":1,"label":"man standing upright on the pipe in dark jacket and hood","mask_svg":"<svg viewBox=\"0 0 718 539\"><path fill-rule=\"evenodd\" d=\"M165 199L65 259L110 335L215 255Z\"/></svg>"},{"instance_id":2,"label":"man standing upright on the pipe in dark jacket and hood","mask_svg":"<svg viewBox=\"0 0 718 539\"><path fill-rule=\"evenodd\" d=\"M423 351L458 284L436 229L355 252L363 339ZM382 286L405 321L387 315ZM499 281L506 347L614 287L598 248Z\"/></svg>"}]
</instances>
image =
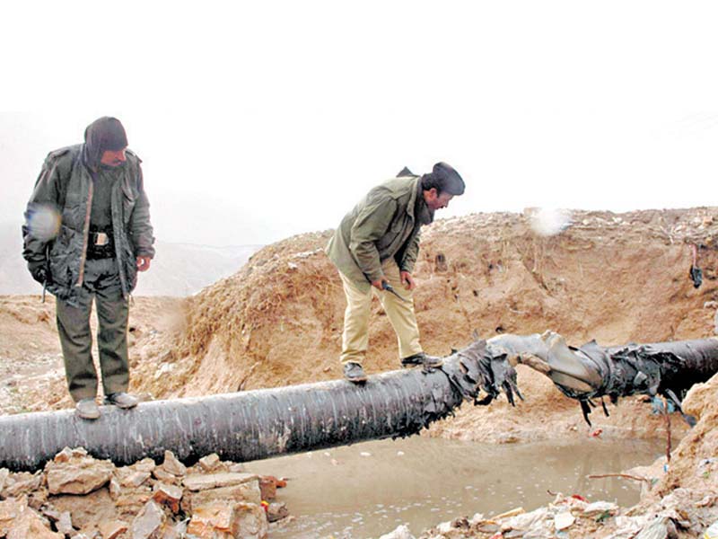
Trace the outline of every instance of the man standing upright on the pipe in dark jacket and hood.
<instances>
[{"instance_id":1,"label":"man standing upright on the pipe in dark jacket and hood","mask_svg":"<svg viewBox=\"0 0 718 539\"><path fill-rule=\"evenodd\" d=\"M105 403L119 408L137 404L127 394L128 298L137 271L148 270L154 256L140 163L127 149L118 119L95 120L85 129L84 144L48 155L22 226L28 269L56 296L67 384L78 415L86 420L100 417L92 299Z\"/></svg>"}]
</instances>

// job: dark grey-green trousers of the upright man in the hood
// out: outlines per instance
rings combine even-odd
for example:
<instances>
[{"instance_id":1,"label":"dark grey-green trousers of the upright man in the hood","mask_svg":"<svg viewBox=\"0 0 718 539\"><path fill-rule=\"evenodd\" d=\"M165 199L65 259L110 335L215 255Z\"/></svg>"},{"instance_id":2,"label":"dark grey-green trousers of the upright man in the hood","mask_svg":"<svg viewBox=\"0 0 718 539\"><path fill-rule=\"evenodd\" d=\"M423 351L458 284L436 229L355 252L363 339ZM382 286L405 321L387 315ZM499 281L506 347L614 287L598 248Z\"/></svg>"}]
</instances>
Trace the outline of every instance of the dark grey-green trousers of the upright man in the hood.
<instances>
[{"instance_id":1,"label":"dark grey-green trousers of the upright man in the hood","mask_svg":"<svg viewBox=\"0 0 718 539\"><path fill-rule=\"evenodd\" d=\"M57 331L65 359L67 386L75 402L97 395L98 376L92 362L90 313L97 309L97 346L100 352L102 389L126 392L129 384L127 317L129 305L122 296L117 261L88 260L76 305L57 300Z\"/></svg>"}]
</instances>

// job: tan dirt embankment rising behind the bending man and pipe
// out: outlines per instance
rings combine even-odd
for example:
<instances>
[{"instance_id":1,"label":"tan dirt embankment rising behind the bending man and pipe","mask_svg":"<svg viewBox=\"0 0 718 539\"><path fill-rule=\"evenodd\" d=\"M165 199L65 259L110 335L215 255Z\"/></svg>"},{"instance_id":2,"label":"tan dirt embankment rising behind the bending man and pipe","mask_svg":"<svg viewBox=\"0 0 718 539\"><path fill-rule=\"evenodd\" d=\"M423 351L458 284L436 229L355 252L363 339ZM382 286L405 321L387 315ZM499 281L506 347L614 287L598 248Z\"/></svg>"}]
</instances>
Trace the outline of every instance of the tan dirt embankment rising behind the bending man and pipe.
<instances>
[{"instance_id":1,"label":"tan dirt embankment rising behind the bending man and pipe","mask_svg":"<svg viewBox=\"0 0 718 539\"><path fill-rule=\"evenodd\" d=\"M716 216L716 208L574 212L571 225L550 237L533 232L530 212L437 221L425 228L415 270L424 347L446 354L473 331L487 338L551 329L574 345L710 336ZM187 330L158 342L159 369L152 354L139 363L136 390L170 397L340 377L345 300L323 252L330 234L270 245L189 298ZM688 275L694 245L703 270L697 288ZM370 373L398 367L396 337L378 301L370 348ZM585 432L577 405L541 376L521 369L519 383L527 401L515 410L501 402L466 406L433 433L510 442ZM549 414L549 425L537 424ZM653 436L663 428L641 402L623 402L614 416L593 414L604 435Z\"/></svg>"}]
</instances>

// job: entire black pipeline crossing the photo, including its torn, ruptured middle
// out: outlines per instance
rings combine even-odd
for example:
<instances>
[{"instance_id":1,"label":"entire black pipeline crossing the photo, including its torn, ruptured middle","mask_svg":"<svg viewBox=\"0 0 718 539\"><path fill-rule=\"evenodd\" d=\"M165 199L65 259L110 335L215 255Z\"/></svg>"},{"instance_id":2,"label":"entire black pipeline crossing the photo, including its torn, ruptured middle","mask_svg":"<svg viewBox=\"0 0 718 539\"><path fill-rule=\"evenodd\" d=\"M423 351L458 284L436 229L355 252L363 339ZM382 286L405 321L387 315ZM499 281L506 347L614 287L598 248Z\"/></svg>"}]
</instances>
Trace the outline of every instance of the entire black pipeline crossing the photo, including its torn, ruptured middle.
<instances>
[{"instance_id":1,"label":"entire black pipeline crossing the photo, including its torn, ruptured middle","mask_svg":"<svg viewBox=\"0 0 718 539\"><path fill-rule=\"evenodd\" d=\"M718 340L603 349L569 348L556 333L477 340L444 358L441 369L415 368L344 380L172 401L133 410L103 407L100 420L73 411L0 417L0 468L37 470L64 447L132 464L171 450L185 464L217 453L246 462L370 439L407 437L450 415L464 400L488 404L521 397L512 363L537 368L587 414L591 398L672 393L718 372ZM480 397L480 398L479 398ZM585 416L588 419L588 416Z\"/></svg>"}]
</instances>

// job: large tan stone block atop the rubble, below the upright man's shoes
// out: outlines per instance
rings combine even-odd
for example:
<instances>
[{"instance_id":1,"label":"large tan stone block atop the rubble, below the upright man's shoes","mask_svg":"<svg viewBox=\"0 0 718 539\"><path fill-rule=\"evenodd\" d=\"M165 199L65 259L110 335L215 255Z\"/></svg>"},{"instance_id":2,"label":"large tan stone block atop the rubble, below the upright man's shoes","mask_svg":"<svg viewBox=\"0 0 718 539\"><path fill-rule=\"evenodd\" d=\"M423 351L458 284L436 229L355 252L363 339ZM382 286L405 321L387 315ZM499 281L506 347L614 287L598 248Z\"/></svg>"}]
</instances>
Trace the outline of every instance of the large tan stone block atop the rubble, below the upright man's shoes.
<instances>
[{"instance_id":1,"label":"large tan stone block atop the rubble, below the upright man's shoes","mask_svg":"<svg viewBox=\"0 0 718 539\"><path fill-rule=\"evenodd\" d=\"M115 465L91 456L75 455L66 462L49 462L45 466L50 494L88 494L106 485Z\"/></svg>"}]
</instances>

